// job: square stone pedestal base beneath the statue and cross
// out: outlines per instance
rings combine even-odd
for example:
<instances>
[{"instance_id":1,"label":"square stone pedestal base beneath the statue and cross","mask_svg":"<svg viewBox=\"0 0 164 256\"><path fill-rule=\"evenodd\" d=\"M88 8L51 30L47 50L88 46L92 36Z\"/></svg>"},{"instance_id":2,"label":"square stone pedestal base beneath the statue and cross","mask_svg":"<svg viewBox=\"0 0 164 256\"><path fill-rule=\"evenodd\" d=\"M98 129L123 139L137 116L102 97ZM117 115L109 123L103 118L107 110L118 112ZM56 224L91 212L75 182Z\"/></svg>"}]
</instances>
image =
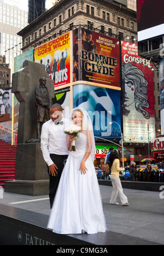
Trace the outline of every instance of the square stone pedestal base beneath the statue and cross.
<instances>
[{"instance_id":1,"label":"square stone pedestal base beneath the statue and cross","mask_svg":"<svg viewBox=\"0 0 164 256\"><path fill-rule=\"evenodd\" d=\"M49 194L49 175L40 143L17 145L15 181L5 182L4 191L30 196Z\"/></svg>"}]
</instances>

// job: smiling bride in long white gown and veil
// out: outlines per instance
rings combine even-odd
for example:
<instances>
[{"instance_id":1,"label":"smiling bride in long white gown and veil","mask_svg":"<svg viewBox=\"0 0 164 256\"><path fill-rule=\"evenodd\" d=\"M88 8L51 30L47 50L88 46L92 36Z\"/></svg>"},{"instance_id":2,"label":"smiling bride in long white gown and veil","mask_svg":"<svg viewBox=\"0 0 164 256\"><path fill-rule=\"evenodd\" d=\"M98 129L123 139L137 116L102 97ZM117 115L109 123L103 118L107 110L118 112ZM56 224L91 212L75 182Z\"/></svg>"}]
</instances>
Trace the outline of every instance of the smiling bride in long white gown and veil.
<instances>
[{"instance_id":1,"label":"smiling bride in long white gown and veil","mask_svg":"<svg viewBox=\"0 0 164 256\"><path fill-rule=\"evenodd\" d=\"M75 141L75 152L70 152L52 206L48 228L57 234L96 234L106 232L101 194L93 160L95 139L87 112L75 108L71 112L73 124L81 126ZM68 150L73 136L67 135Z\"/></svg>"}]
</instances>

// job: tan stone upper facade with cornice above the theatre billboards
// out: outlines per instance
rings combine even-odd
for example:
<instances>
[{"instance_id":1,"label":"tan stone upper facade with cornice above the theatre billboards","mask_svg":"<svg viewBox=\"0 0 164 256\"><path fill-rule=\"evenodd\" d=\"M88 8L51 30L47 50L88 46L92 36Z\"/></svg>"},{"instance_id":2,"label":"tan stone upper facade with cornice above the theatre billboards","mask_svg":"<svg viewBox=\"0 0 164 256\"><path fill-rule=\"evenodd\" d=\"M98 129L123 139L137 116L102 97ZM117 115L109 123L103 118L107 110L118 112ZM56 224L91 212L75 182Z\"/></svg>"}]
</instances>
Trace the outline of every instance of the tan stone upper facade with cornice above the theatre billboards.
<instances>
[{"instance_id":1,"label":"tan stone upper facade with cornice above the theatre billboards","mask_svg":"<svg viewBox=\"0 0 164 256\"><path fill-rule=\"evenodd\" d=\"M38 19L21 30L22 51L73 26L87 25L90 30L96 28L109 36L119 36L121 39L129 36L137 39L136 12L109 1L68 1L61 0Z\"/></svg>"}]
</instances>

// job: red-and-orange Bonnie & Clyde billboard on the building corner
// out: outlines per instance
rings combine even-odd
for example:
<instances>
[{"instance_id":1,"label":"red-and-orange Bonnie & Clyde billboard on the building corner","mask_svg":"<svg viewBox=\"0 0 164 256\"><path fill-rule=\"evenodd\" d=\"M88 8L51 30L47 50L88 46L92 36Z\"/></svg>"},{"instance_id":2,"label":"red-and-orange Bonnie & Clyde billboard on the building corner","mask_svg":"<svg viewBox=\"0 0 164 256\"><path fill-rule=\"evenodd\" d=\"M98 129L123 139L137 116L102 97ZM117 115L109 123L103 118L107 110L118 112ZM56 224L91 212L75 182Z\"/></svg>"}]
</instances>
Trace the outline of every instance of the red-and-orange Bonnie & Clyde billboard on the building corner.
<instances>
[{"instance_id":1,"label":"red-and-orange Bonnie & Clyde billboard on the building corner","mask_svg":"<svg viewBox=\"0 0 164 256\"><path fill-rule=\"evenodd\" d=\"M73 82L120 86L119 40L77 28L73 31Z\"/></svg>"}]
</instances>

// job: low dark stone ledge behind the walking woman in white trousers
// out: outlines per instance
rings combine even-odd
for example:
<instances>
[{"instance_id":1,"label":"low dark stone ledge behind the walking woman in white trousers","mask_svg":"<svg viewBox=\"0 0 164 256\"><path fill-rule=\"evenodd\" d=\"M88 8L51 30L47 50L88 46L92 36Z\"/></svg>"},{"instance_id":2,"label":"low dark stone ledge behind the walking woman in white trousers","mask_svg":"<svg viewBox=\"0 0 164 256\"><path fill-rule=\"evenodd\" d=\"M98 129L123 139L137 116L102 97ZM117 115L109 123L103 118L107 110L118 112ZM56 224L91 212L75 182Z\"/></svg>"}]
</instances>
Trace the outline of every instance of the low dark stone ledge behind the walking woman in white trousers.
<instances>
[{"instance_id":1,"label":"low dark stone ledge behind the walking woman in white trousers","mask_svg":"<svg viewBox=\"0 0 164 256\"><path fill-rule=\"evenodd\" d=\"M112 186L111 181L104 181L104 179L99 179L98 183L99 185ZM156 191L156 192L160 192L161 191L160 187L164 186L164 183L155 183L155 182L121 181L121 184L122 184L122 188Z\"/></svg>"}]
</instances>

